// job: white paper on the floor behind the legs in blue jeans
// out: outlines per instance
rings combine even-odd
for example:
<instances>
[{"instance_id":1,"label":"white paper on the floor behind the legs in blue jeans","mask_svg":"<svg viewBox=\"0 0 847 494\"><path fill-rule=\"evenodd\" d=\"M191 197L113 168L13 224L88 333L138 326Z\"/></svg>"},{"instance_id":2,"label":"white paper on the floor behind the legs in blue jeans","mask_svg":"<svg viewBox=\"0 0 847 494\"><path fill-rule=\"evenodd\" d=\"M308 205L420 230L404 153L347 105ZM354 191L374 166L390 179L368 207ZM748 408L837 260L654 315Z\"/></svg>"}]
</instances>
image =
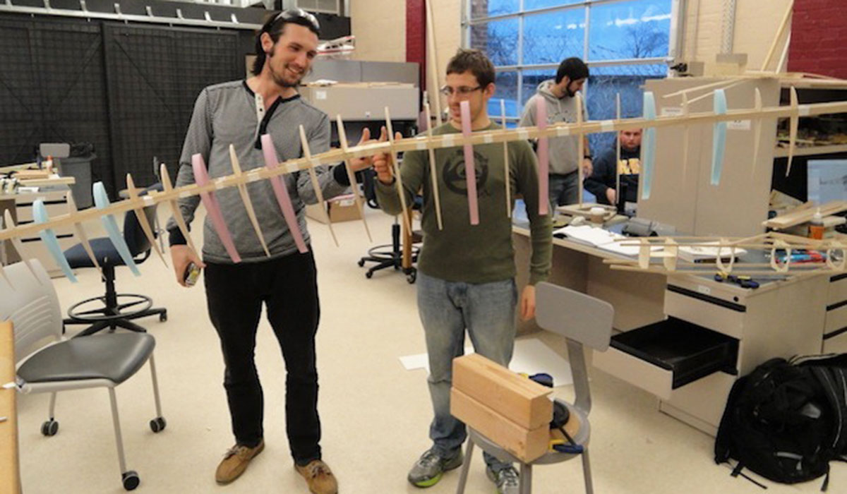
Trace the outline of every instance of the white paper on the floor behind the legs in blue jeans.
<instances>
[{"instance_id":1,"label":"white paper on the floor behind the legs in blue jeans","mask_svg":"<svg viewBox=\"0 0 847 494\"><path fill-rule=\"evenodd\" d=\"M473 353L473 347L465 347L465 354L468 353ZM400 362L406 370L426 369L429 372L429 360L426 353L401 357ZM571 368L567 360L537 338L515 341L515 351L509 369L529 375L545 372L553 376L553 383L556 386L573 384Z\"/></svg>"}]
</instances>

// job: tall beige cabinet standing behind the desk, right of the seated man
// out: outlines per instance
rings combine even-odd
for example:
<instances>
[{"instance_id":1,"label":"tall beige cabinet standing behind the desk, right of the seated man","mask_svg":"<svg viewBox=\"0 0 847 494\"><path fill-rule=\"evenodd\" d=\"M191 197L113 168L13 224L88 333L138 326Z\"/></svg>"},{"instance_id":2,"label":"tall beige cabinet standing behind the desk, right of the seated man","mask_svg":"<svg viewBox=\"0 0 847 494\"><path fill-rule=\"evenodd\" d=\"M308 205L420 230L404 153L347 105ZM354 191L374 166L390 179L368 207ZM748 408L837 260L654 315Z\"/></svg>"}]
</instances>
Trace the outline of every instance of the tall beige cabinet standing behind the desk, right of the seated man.
<instances>
[{"instance_id":1,"label":"tall beige cabinet standing behind the desk, right of the seated man","mask_svg":"<svg viewBox=\"0 0 847 494\"><path fill-rule=\"evenodd\" d=\"M718 79L706 77L647 80L645 91L656 98L656 114L682 113L682 97L666 97L683 89L702 86ZM778 106L777 79L750 79L726 90L729 109L753 108L755 90L761 92L765 107ZM711 92L692 92L689 99ZM711 112L711 96L689 105L691 113ZM656 166L650 198L641 199L638 216L674 225L679 231L698 236L753 236L764 232L771 192L773 149L776 146L777 119L761 119L760 152L753 173L753 138L750 120L728 124L726 153L720 184L713 186L711 124L689 125L688 159L684 160L684 126L656 129ZM639 189L643 189L644 179Z\"/></svg>"}]
</instances>

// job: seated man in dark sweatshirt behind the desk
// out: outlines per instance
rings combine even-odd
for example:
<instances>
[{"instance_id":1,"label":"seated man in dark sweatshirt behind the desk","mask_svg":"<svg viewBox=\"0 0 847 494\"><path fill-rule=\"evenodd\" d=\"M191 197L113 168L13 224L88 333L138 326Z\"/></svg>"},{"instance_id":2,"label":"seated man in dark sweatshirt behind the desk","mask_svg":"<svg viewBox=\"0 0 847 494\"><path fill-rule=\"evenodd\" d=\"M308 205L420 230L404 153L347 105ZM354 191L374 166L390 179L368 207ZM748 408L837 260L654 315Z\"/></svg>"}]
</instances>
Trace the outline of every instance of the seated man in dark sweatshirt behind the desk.
<instances>
[{"instance_id":1,"label":"seated man in dark sweatshirt behind the desk","mask_svg":"<svg viewBox=\"0 0 847 494\"><path fill-rule=\"evenodd\" d=\"M634 203L638 197L638 175L641 171L641 129L621 130L621 160L612 146L601 153L594 163L594 171L585 178L585 188L597 197L597 203L617 203L616 176L621 177L621 190L626 190L624 200ZM617 175L616 175L617 172Z\"/></svg>"}]
</instances>

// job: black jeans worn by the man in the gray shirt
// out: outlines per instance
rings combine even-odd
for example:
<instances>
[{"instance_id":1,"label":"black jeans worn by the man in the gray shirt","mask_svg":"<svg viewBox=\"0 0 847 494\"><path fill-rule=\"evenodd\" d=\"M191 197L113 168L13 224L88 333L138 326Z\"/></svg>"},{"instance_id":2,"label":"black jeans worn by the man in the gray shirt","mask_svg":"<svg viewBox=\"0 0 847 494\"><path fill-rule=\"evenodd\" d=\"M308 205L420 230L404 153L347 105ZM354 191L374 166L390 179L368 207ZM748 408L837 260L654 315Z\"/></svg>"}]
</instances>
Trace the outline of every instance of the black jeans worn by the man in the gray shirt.
<instances>
[{"instance_id":1,"label":"black jeans worn by the man in the gray shirt","mask_svg":"<svg viewBox=\"0 0 847 494\"><path fill-rule=\"evenodd\" d=\"M263 394L254 349L262 303L285 359L285 428L291 456L305 465L321 458L318 418L317 270L312 252L258 263L207 263L209 318L224 353L224 388L238 444L263 438Z\"/></svg>"}]
</instances>

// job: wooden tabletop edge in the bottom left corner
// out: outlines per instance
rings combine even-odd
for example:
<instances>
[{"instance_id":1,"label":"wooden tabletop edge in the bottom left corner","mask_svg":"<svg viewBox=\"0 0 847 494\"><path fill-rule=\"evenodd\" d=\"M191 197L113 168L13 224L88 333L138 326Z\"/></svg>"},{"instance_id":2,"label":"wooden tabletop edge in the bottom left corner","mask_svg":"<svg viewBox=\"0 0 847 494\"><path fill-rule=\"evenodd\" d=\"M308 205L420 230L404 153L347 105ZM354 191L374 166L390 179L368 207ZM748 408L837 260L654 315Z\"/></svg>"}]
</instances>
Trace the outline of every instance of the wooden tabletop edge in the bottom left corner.
<instances>
[{"instance_id":1,"label":"wooden tabletop edge in the bottom left corner","mask_svg":"<svg viewBox=\"0 0 847 494\"><path fill-rule=\"evenodd\" d=\"M0 386L14 382L14 333L12 323L0 322ZM18 469L17 390L0 388L0 492L20 491Z\"/></svg>"}]
</instances>

